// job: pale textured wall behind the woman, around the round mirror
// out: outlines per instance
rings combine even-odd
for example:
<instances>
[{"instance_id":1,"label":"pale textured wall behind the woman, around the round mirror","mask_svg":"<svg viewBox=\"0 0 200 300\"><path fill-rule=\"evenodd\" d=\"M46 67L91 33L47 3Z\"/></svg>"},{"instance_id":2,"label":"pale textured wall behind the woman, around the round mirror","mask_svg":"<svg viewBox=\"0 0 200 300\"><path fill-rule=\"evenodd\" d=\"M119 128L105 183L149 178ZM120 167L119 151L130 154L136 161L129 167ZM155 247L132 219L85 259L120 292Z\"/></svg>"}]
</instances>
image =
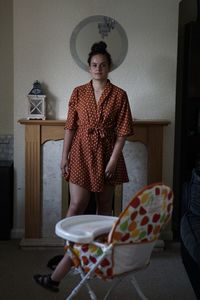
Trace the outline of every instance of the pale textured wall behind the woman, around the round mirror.
<instances>
[{"instance_id":1,"label":"pale textured wall behind the woman, around the round mirror","mask_svg":"<svg viewBox=\"0 0 200 300\"><path fill-rule=\"evenodd\" d=\"M124 88L135 118L168 119L164 132L163 179L172 184L177 59L178 0L14 1L14 236L24 227L24 127L26 95L36 79L45 86L55 116L65 118L72 89L89 80L73 61L69 40L84 18L104 14L125 29L129 48L110 74Z\"/></svg>"}]
</instances>

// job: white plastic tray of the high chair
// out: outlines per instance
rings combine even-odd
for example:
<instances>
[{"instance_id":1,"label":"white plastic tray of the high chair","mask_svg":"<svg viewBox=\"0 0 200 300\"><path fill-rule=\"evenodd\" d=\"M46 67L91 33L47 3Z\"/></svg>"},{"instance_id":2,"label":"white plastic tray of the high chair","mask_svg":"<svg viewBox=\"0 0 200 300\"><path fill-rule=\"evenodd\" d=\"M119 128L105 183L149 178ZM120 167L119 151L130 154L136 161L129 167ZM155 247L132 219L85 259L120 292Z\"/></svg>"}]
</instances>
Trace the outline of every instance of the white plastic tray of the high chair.
<instances>
[{"instance_id":1,"label":"white plastic tray of the high chair","mask_svg":"<svg viewBox=\"0 0 200 300\"><path fill-rule=\"evenodd\" d=\"M90 243L95 237L109 233L117 217L79 215L62 219L56 224L56 234L75 243Z\"/></svg>"}]
</instances>

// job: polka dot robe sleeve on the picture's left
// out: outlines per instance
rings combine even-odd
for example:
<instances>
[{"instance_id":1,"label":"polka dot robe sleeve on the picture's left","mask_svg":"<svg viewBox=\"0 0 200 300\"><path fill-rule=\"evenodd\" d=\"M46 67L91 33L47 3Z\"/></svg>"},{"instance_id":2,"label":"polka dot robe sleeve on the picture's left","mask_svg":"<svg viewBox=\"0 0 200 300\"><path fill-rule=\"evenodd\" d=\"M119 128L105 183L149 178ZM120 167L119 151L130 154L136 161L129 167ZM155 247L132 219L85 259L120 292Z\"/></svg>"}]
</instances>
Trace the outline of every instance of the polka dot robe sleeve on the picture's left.
<instances>
[{"instance_id":1,"label":"polka dot robe sleeve on the picture's left","mask_svg":"<svg viewBox=\"0 0 200 300\"><path fill-rule=\"evenodd\" d=\"M68 114L65 123L65 129L77 129L78 127L78 113L77 113L77 103L78 103L78 89L74 89L68 104Z\"/></svg>"}]
</instances>

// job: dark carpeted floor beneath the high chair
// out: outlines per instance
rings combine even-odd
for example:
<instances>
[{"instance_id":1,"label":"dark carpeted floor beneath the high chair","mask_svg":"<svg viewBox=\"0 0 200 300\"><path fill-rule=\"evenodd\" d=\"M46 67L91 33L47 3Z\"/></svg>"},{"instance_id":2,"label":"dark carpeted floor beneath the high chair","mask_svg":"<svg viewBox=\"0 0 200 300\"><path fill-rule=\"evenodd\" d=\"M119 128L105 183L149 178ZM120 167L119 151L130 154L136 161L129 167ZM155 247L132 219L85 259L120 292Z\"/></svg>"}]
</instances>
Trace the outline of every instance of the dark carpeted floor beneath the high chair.
<instances>
[{"instance_id":1,"label":"dark carpeted floor beneath the high chair","mask_svg":"<svg viewBox=\"0 0 200 300\"><path fill-rule=\"evenodd\" d=\"M78 282L78 275L68 275L59 293L49 292L36 285L33 274L48 273L46 264L54 255L62 254L62 248L24 250L19 241L0 241L0 299L2 300L60 300L65 299ZM195 296L182 265L179 245L169 244L162 252L154 252L149 268L136 275L138 283L149 300L195 300ZM110 283L95 279L91 284L98 299L102 299ZM90 299L82 288L74 299ZM139 300L130 281L123 282L113 292L110 300Z\"/></svg>"}]
</instances>

